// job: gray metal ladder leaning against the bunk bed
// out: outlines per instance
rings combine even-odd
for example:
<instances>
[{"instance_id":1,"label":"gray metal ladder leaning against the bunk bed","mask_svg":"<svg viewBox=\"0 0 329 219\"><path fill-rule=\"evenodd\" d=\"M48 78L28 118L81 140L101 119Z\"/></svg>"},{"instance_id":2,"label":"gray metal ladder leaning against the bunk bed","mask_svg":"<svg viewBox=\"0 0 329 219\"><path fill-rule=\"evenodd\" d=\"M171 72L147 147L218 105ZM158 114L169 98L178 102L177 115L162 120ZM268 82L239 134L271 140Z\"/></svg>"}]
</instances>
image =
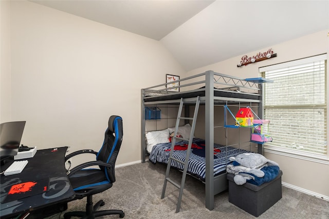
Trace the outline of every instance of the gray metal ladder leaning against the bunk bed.
<instances>
[{"instance_id":1,"label":"gray metal ladder leaning against the bunk bed","mask_svg":"<svg viewBox=\"0 0 329 219\"><path fill-rule=\"evenodd\" d=\"M177 120L176 120L176 126L175 126L175 133L174 133L174 136L173 136L173 139L172 139L172 143L171 143L171 149L170 149L170 155L169 155L169 160L168 160L168 165L167 165L165 182L163 183L162 194L161 194L161 198L164 198L165 197L165 192L166 192L166 187L167 187L167 182L173 184L178 189L180 189L179 195L178 195L178 202L177 202L177 207L176 207L176 213L179 212L180 203L181 203L181 197L182 197L183 190L184 190L185 178L186 178L186 173L187 173L187 169L188 169L188 165L189 165L189 157L190 157L190 153L191 153L192 141L193 141L193 136L194 136L194 129L195 129L196 117L197 117L197 112L199 110L199 105L200 105L200 97L198 96L196 98L196 103L195 103L193 117L181 117L181 111L182 111L183 105L184 105L184 99L181 98L180 99L180 104L179 104L179 109L178 109L178 114L177 114ZM178 131L178 126L179 126L180 120L192 120L191 133L190 133L189 140L184 139L184 138L180 138L180 137L177 137L176 136L177 135L177 131ZM186 159L185 159L185 161L180 161L177 158L173 157L173 151L174 151L176 139L177 140L186 140L186 141L189 141L188 148L187 148L187 151L186 151ZM170 172L170 167L171 167L171 162L172 161L176 161L176 162L184 165L184 170L182 172L182 177L181 177L180 185L169 178L169 172Z\"/></svg>"}]
</instances>

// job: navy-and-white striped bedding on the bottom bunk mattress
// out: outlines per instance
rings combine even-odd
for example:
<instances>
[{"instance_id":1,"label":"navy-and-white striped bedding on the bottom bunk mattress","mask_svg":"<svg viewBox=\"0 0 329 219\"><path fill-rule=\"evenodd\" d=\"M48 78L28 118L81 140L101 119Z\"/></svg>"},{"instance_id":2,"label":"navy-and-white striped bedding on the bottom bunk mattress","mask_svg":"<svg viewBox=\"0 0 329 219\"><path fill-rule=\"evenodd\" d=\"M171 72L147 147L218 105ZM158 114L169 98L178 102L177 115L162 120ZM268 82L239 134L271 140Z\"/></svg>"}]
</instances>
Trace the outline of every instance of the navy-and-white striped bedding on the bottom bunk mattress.
<instances>
[{"instance_id":1,"label":"navy-and-white striped bedding on the bottom bunk mattress","mask_svg":"<svg viewBox=\"0 0 329 219\"><path fill-rule=\"evenodd\" d=\"M177 142L174 147L173 157L179 161L185 161L187 153L188 141ZM152 148L149 160L155 164L156 162L168 164L171 150L171 143L157 144ZM226 172L226 166L232 163L229 157L236 156L241 153L250 152L247 150L214 144L214 176ZM205 181L206 177L206 158L205 158L205 140L193 138L192 150L189 158L189 166L187 172L201 181ZM179 170L184 169L184 164L172 160L171 166Z\"/></svg>"}]
</instances>

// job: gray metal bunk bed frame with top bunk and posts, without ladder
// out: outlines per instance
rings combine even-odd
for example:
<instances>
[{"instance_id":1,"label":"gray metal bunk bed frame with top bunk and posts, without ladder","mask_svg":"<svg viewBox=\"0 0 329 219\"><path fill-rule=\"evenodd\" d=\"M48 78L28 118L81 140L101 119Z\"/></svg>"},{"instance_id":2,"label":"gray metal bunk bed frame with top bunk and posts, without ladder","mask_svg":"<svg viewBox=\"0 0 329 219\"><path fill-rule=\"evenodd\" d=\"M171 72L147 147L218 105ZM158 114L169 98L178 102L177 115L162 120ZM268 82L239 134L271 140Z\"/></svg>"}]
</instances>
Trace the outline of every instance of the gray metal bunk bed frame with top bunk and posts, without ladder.
<instances>
[{"instance_id":1,"label":"gray metal bunk bed frame with top bunk and posts, without ladder","mask_svg":"<svg viewBox=\"0 0 329 219\"><path fill-rule=\"evenodd\" d=\"M179 79L179 92L172 91L171 83L141 89L141 160L147 156L145 142L145 107L158 104L179 105L181 98L187 104L200 99L200 105L205 105L205 192L206 208L214 208L214 195L227 189L226 172L214 175L214 106L228 104L255 104L258 116L263 116L262 83L265 78L239 78L214 71ZM185 108L189 114L189 107ZM186 115L185 115L186 116ZM227 147L227 146L226 146ZM263 154L262 144L258 144L258 153ZM242 152L243 153L243 152Z\"/></svg>"}]
</instances>

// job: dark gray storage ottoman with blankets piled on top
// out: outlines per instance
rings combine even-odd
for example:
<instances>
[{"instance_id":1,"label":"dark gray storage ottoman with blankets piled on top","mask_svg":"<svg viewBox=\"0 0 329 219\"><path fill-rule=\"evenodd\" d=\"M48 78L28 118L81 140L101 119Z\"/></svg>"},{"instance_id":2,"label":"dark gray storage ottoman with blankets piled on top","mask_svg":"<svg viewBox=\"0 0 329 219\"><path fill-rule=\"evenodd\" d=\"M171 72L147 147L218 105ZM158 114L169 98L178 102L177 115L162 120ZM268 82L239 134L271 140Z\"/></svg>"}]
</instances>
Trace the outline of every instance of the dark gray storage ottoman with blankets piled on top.
<instances>
[{"instance_id":1,"label":"dark gray storage ottoman with blankets piled on top","mask_svg":"<svg viewBox=\"0 0 329 219\"><path fill-rule=\"evenodd\" d=\"M256 186L250 183L236 185L234 174L228 173L228 201L258 217L282 198L282 171L269 183Z\"/></svg>"}]
</instances>

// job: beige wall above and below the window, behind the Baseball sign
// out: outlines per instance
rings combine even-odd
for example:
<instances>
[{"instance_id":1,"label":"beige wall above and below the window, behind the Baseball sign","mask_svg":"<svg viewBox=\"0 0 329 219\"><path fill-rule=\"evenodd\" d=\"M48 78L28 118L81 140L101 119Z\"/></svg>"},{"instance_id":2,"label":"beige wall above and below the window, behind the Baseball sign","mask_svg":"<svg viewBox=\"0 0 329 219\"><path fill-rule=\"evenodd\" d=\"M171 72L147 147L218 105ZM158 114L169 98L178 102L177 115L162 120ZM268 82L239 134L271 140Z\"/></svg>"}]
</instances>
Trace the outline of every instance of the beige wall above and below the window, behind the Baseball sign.
<instances>
[{"instance_id":1,"label":"beige wall above and below the window, behind the Baseball sign","mask_svg":"<svg viewBox=\"0 0 329 219\"><path fill-rule=\"evenodd\" d=\"M188 72L187 76L207 70L214 70L216 72L235 75L241 78L259 77L259 67L323 53L329 54L329 37L327 36L328 31L329 30L324 30L282 44L272 45L259 50L255 50L254 52L250 52L248 54L241 54L223 62L215 63L213 65L205 66L199 69L194 69ZM278 56L240 68L236 67L236 65L241 61L241 57L243 55L248 55L250 57L257 54L258 52L266 52L269 48L272 48ZM327 97L328 96L329 95L327 95ZM326 196L327 200L329 200L329 187L327 183L329 182L328 162L327 164L315 163L301 160L299 158L273 154L270 152L265 152L265 156L268 159L276 161L280 164L280 168L283 171L282 181L287 186L291 186L306 192L310 191L310 193L318 193L320 196Z\"/></svg>"}]
</instances>

